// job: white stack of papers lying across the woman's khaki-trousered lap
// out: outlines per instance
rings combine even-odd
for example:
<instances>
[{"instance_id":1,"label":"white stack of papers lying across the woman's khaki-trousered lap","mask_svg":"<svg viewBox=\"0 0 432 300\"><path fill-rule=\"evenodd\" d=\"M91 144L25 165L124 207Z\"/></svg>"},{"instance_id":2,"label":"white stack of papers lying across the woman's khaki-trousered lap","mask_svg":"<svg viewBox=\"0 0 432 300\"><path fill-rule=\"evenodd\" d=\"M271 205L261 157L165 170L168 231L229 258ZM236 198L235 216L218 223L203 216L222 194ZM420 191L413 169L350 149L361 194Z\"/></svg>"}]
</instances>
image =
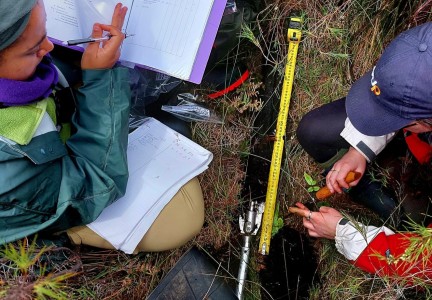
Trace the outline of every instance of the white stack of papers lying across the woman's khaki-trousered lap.
<instances>
[{"instance_id":1,"label":"white stack of papers lying across the woman's khaki-trousered lap","mask_svg":"<svg viewBox=\"0 0 432 300\"><path fill-rule=\"evenodd\" d=\"M125 196L88 226L130 254L180 187L208 168L213 154L153 118L129 135L127 154Z\"/></svg>"}]
</instances>

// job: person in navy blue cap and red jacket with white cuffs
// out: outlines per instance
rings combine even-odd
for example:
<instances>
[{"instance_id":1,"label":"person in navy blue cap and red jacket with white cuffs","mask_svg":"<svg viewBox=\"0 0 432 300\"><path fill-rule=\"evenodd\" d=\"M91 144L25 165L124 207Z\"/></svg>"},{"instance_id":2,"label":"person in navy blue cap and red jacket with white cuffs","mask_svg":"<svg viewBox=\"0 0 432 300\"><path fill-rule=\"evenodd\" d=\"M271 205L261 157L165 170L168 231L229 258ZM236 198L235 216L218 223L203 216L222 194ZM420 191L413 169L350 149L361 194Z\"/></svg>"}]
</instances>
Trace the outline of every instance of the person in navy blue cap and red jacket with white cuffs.
<instances>
[{"instance_id":1,"label":"person in navy blue cap and red jacket with white cuffs","mask_svg":"<svg viewBox=\"0 0 432 300\"><path fill-rule=\"evenodd\" d=\"M352 85L346 98L309 112L297 129L300 144L326 169L330 191L342 193L351 187L349 195L375 210L389 227L400 223L399 207L404 208L402 216L411 221L424 225L430 221L430 189L420 193L421 199L409 199L417 202L407 205L404 202L408 197L403 195L396 201L394 194L371 181L365 171L367 163L394 146L397 132L402 132L418 160L418 170L423 168L430 175L431 70L432 23L425 23L399 34L375 67ZM387 154L392 151L384 156ZM350 171L361 173L363 178L346 183ZM423 184L430 188L431 181ZM330 207L312 212L302 203L296 206L290 211L303 217L303 225L312 237L335 239L337 250L361 269L383 276L396 275L408 284L413 284L413 274L417 279L431 278L430 251L415 251L424 249L418 233L366 226Z\"/></svg>"}]
</instances>

